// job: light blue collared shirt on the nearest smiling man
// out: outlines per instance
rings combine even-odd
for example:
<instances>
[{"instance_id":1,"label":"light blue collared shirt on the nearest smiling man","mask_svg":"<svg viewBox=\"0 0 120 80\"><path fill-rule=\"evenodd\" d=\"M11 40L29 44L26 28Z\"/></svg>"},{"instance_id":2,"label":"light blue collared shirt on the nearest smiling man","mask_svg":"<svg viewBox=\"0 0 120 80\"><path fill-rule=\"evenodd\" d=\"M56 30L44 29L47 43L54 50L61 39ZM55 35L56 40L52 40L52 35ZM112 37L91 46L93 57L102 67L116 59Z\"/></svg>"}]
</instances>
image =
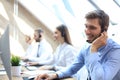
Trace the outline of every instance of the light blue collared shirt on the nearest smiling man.
<instances>
[{"instance_id":1,"label":"light blue collared shirt on the nearest smiling man","mask_svg":"<svg viewBox=\"0 0 120 80\"><path fill-rule=\"evenodd\" d=\"M59 78L75 74L86 66L91 80L120 80L120 45L111 39L107 44L90 53L90 44L85 45L75 61L68 68L56 72Z\"/></svg>"}]
</instances>

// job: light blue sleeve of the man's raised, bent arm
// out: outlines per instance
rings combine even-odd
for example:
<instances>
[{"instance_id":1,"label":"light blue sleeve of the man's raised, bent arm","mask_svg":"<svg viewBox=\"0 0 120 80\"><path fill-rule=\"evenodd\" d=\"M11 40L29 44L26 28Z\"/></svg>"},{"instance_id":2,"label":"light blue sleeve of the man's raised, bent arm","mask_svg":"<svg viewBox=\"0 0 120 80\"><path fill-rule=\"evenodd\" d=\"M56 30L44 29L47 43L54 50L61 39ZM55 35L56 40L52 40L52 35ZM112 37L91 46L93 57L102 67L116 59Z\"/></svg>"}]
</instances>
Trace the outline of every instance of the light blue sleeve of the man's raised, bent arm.
<instances>
[{"instance_id":1,"label":"light blue sleeve of the man's raised, bent arm","mask_svg":"<svg viewBox=\"0 0 120 80\"><path fill-rule=\"evenodd\" d=\"M92 80L113 80L120 69L120 49L113 49L105 59L97 53L91 53L87 59L87 69ZM105 60L105 61L103 61Z\"/></svg>"}]
</instances>

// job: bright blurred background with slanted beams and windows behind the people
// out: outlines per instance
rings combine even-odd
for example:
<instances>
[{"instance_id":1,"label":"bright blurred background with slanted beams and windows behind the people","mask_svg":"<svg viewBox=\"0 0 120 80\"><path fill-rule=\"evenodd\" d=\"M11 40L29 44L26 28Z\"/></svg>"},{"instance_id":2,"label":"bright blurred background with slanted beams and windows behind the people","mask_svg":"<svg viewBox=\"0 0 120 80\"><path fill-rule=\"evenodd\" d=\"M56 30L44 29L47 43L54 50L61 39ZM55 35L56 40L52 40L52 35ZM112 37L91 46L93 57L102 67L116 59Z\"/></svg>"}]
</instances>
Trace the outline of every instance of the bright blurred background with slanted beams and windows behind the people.
<instances>
[{"instance_id":1,"label":"bright blurred background with slanted beams and windows behind the people","mask_svg":"<svg viewBox=\"0 0 120 80\"><path fill-rule=\"evenodd\" d=\"M54 28L65 24L73 45L80 49L85 42L84 16L95 9L109 14L108 35L120 43L120 0L0 0L0 33L9 25L11 53L22 56L28 46L24 35L33 36L40 27L55 49Z\"/></svg>"}]
</instances>

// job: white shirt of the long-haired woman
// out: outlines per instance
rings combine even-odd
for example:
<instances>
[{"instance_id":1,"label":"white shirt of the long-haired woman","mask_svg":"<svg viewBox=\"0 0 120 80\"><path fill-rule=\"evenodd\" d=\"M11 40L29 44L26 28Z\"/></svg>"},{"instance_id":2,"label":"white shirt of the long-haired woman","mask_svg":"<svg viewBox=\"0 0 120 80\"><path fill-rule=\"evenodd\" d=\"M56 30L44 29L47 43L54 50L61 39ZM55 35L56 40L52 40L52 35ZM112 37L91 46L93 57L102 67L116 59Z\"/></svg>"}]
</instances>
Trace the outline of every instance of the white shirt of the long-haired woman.
<instances>
[{"instance_id":1,"label":"white shirt of the long-haired woman","mask_svg":"<svg viewBox=\"0 0 120 80\"><path fill-rule=\"evenodd\" d=\"M73 62L76 54L77 50L72 45L67 43L60 44L54 53L55 68L59 70L63 67L67 67Z\"/></svg>"}]
</instances>

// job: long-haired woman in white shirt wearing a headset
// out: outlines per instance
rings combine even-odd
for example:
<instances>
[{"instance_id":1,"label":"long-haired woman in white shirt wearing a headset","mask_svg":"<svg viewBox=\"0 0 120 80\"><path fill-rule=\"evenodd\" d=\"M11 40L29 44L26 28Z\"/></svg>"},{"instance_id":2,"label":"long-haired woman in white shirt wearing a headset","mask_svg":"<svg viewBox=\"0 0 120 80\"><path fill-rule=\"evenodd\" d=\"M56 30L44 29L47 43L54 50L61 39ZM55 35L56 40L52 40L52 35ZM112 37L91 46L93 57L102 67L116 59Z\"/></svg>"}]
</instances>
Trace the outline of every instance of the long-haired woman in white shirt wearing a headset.
<instances>
[{"instance_id":1,"label":"long-haired woman in white shirt wearing a headset","mask_svg":"<svg viewBox=\"0 0 120 80\"><path fill-rule=\"evenodd\" d=\"M60 70L64 67L69 66L77 54L77 50L72 46L70 35L65 25L56 27L54 38L55 41L59 43L59 45L54 53L53 65L45 65L39 69Z\"/></svg>"}]
</instances>

